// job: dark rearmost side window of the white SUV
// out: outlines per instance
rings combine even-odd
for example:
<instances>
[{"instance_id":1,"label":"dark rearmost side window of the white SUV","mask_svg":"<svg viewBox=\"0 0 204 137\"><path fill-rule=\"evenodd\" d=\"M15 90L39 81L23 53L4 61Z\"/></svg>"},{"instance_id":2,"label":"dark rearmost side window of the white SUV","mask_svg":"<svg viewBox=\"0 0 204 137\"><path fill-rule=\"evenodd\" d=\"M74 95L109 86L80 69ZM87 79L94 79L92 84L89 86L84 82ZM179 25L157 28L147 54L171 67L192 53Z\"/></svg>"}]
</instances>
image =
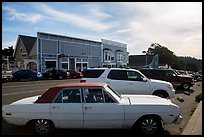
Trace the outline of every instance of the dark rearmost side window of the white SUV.
<instances>
[{"instance_id":1,"label":"dark rearmost side window of the white SUV","mask_svg":"<svg viewBox=\"0 0 204 137\"><path fill-rule=\"evenodd\" d=\"M86 70L84 72L84 78L98 78L105 70Z\"/></svg>"}]
</instances>

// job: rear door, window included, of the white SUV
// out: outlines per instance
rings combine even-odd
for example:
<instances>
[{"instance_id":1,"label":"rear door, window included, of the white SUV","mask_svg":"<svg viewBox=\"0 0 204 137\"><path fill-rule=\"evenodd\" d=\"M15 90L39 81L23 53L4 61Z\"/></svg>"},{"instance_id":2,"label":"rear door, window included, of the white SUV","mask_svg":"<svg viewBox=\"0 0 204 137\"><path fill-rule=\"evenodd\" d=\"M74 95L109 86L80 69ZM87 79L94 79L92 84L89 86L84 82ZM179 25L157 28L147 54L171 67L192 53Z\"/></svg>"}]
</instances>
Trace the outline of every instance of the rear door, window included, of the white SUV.
<instances>
[{"instance_id":1,"label":"rear door, window included, of the white SUV","mask_svg":"<svg viewBox=\"0 0 204 137\"><path fill-rule=\"evenodd\" d=\"M115 91L125 94L128 91L127 72L125 70L111 70L106 83Z\"/></svg>"}]
</instances>

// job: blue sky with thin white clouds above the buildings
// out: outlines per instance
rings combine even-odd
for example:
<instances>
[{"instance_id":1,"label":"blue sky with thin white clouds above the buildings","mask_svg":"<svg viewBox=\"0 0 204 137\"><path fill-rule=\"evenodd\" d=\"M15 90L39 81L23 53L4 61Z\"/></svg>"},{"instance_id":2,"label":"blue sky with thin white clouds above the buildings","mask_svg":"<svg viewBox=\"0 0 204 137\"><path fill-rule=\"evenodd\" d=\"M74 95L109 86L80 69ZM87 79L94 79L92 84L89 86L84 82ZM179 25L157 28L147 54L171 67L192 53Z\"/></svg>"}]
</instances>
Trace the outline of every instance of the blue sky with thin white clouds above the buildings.
<instances>
[{"instance_id":1,"label":"blue sky with thin white clouds above the buildings","mask_svg":"<svg viewBox=\"0 0 204 137\"><path fill-rule=\"evenodd\" d=\"M37 32L127 44L141 55L152 43L202 59L202 2L3 2L2 49Z\"/></svg>"}]
</instances>

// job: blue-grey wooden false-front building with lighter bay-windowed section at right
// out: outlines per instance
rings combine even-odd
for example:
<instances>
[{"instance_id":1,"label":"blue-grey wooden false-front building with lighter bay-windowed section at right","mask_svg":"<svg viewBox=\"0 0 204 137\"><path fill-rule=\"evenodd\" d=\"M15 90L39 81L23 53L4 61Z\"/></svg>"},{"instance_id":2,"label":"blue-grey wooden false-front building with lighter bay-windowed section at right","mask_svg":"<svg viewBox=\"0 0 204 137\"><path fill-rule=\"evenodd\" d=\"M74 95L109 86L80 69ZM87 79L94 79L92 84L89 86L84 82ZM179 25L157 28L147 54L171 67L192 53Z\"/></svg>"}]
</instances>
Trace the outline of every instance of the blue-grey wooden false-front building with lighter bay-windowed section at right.
<instances>
[{"instance_id":1,"label":"blue-grey wooden false-front building with lighter bay-windowed section at right","mask_svg":"<svg viewBox=\"0 0 204 137\"><path fill-rule=\"evenodd\" d=\"M127 45L102 39L102 42L68 36L37 33L38 71L57 68L83 71L88 67L126 67Z\"/></svg>"}]
</instances>

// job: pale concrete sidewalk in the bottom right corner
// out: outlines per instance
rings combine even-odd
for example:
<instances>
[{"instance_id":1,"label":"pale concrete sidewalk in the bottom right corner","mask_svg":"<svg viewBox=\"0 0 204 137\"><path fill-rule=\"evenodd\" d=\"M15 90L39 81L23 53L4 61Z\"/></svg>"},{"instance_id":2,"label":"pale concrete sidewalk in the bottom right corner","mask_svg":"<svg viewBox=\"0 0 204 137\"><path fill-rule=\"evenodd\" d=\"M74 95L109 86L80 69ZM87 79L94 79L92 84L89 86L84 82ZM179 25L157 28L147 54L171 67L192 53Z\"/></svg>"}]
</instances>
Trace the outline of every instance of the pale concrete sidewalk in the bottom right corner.
<instances>
[{"instance_id":1,"label":"pale concrete sidewalk in the bottom right corner","mask_svg":"<svg viewBox=\"0 0 204 137\"><path fill-rule=\"evenodd\" d=\"M202 135L202 101L198 104L181 135Z\"/></svg>"}]
</instances>

